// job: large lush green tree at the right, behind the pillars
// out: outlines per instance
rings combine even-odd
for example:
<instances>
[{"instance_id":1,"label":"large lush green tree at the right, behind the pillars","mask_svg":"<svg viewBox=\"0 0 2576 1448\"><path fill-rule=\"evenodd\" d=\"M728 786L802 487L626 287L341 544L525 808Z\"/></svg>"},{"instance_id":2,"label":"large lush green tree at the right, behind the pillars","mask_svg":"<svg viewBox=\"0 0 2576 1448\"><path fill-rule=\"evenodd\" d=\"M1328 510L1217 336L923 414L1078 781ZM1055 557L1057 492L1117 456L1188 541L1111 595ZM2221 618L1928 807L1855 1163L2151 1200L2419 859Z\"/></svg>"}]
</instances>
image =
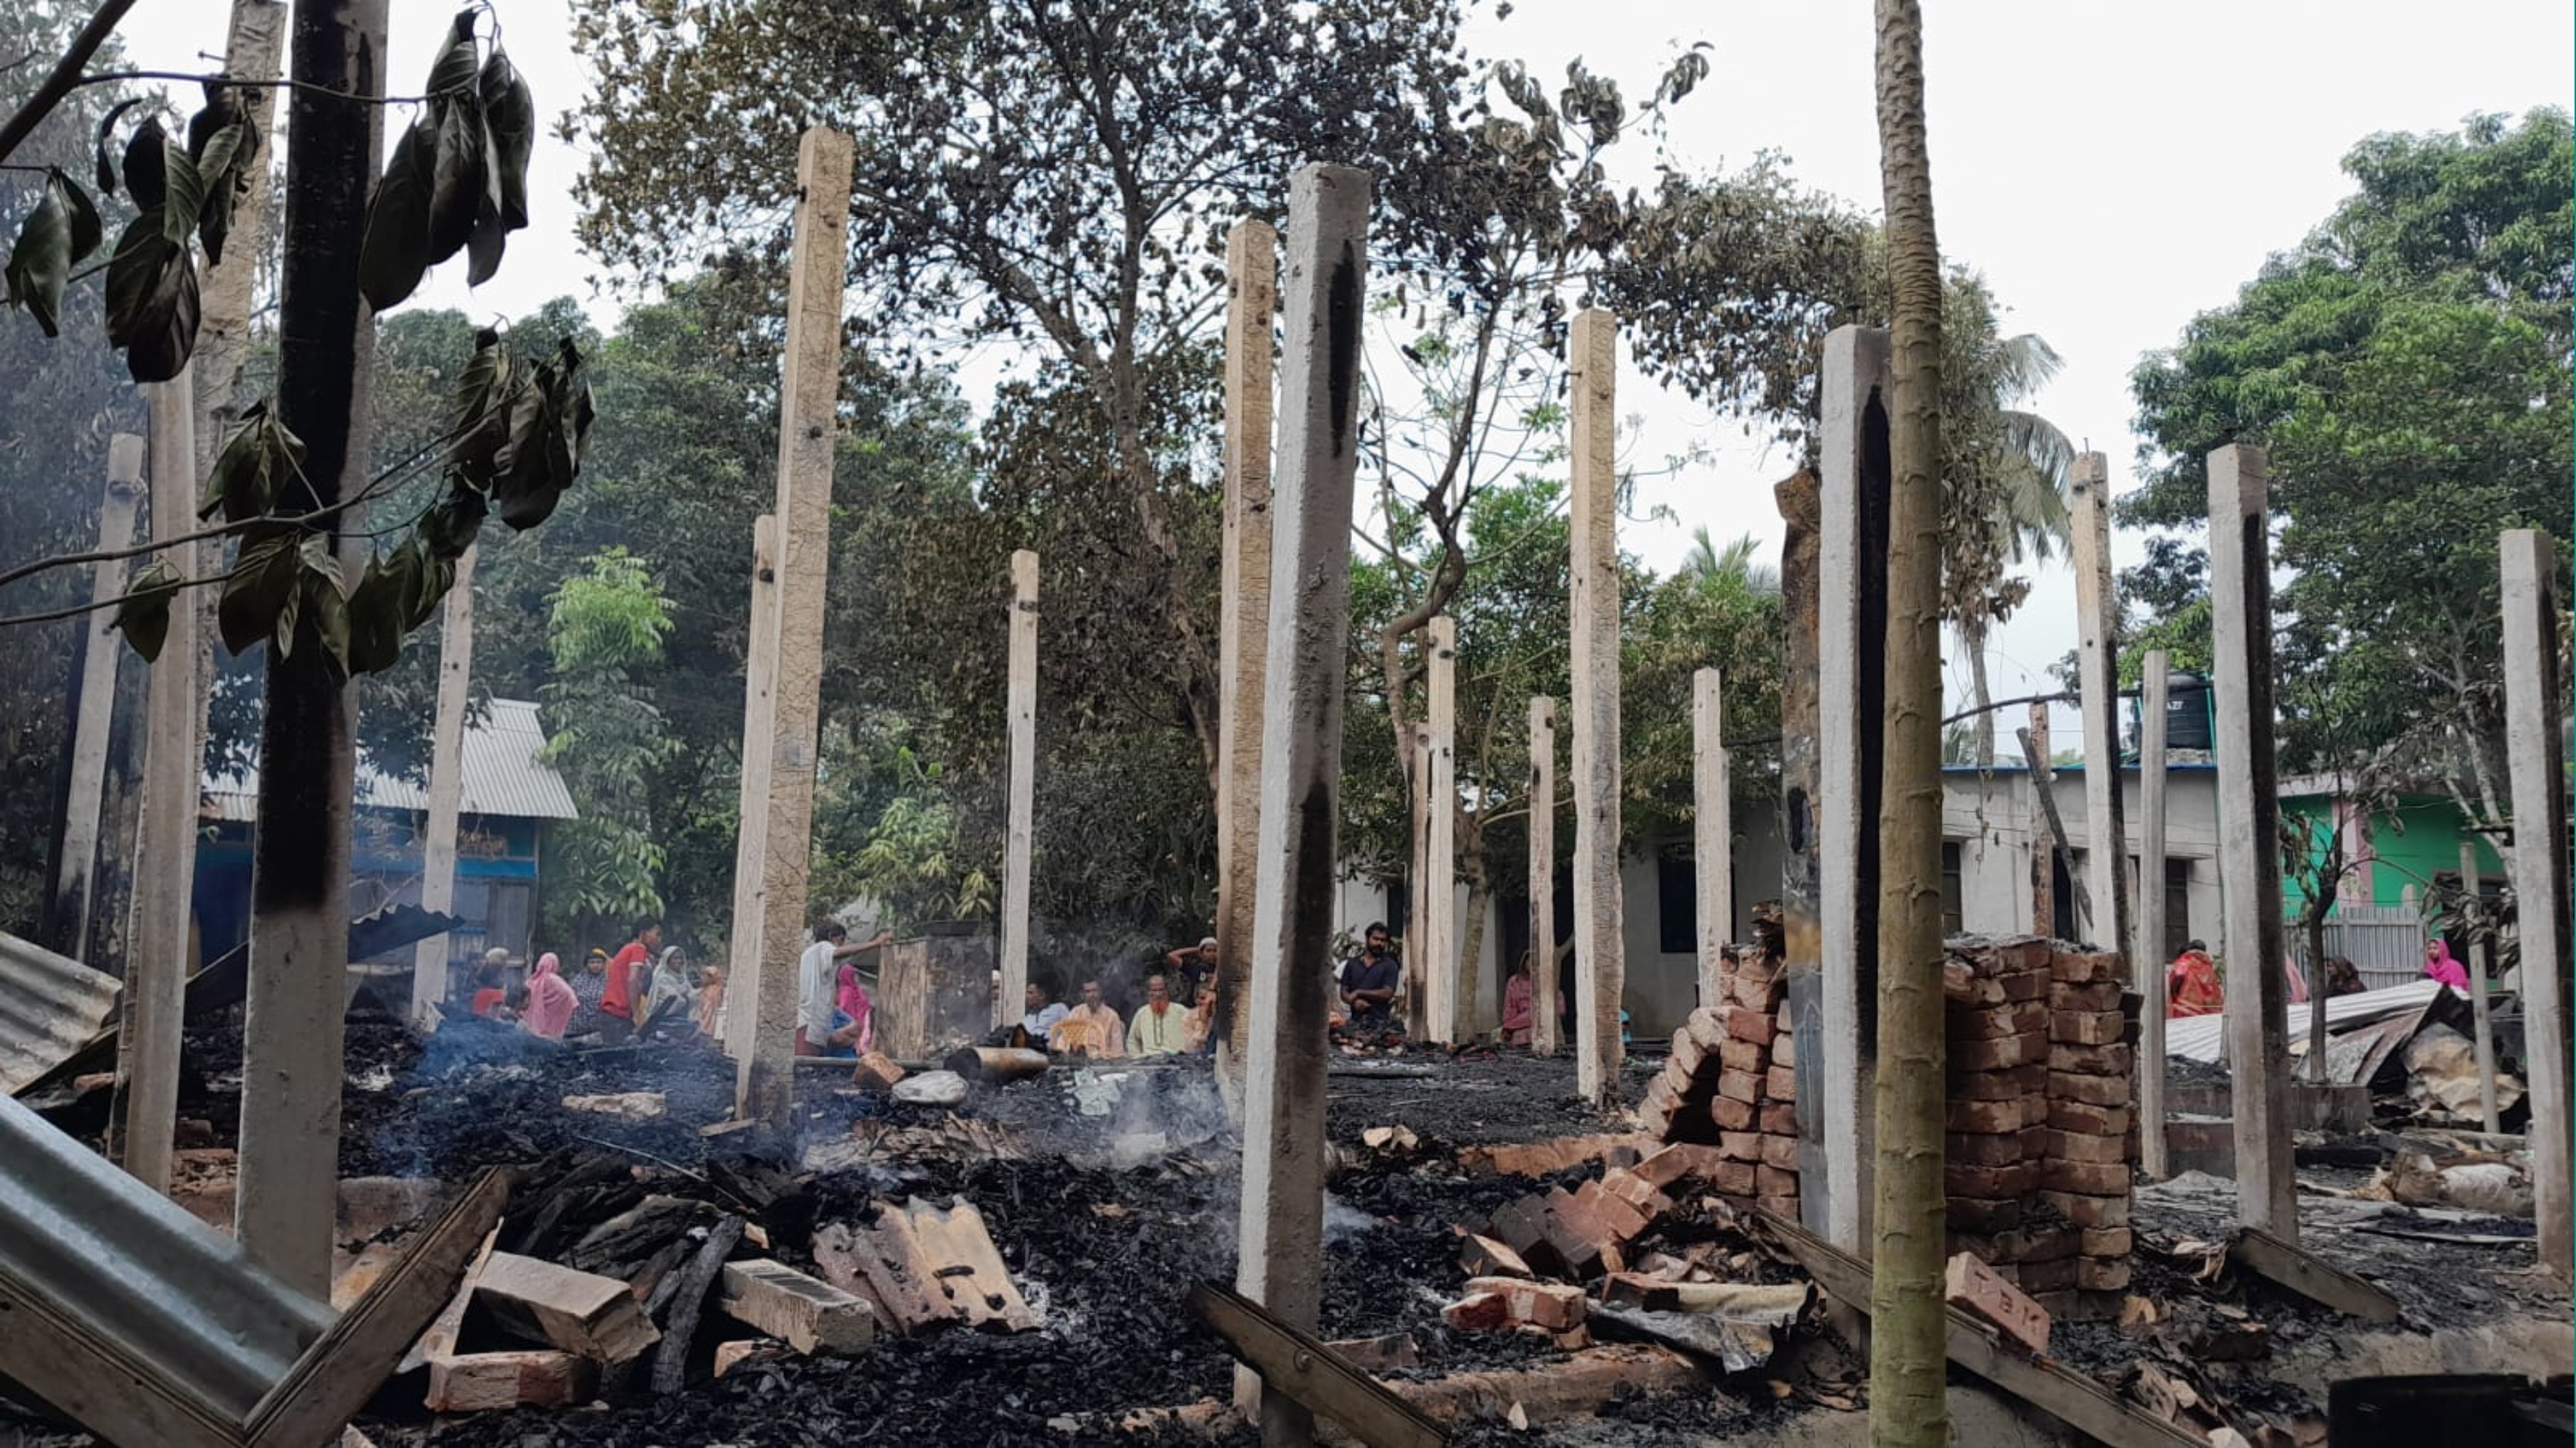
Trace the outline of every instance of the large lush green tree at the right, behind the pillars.
<instances>
[{"instance_id":1,"label":"large lush green tree at the right, behind the pillars","mask_svg":"<svg viewBox=\"0 0 2576 1448\"><path fill-rule=\"evenodd\" d=\"M2383 755L2506 814L2496 531L2563 528L2576 142L2566 111L2380 134L2357 191L2133 374L2148 487L2184 536L2123 575L2148 631L2205 657L2205 456L2264 443L2282 634L2282 768Z\"/></svg>"}]
</instances>

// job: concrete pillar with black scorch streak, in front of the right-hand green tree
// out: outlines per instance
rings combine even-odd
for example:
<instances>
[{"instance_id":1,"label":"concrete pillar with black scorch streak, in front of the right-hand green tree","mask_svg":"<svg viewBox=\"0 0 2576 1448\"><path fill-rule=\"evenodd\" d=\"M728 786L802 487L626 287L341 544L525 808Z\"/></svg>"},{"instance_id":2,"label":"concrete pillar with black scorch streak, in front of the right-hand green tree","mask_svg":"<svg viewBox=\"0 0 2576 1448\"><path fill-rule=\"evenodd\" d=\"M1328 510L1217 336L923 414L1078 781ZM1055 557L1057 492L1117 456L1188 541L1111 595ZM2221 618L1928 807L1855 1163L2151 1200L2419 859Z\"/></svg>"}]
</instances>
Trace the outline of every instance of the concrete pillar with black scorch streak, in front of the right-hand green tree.
<instances>
[{"instance_id":1,"label":"concrete pillar with black scorch streak, in front of the right-hand green tree","mask_svg":"<svg viewBox=\"0 0 2576 1448\"><path fill-rule=\"evenodd\" d=\"M2282 982L2280 781L2272 757L2272 541L2262 448L2210 453L2210 636L2218 701L2218 876L2236 1216L2298 1239L2290 1165L2290 992Z\"/></svg>"}]
</instances>

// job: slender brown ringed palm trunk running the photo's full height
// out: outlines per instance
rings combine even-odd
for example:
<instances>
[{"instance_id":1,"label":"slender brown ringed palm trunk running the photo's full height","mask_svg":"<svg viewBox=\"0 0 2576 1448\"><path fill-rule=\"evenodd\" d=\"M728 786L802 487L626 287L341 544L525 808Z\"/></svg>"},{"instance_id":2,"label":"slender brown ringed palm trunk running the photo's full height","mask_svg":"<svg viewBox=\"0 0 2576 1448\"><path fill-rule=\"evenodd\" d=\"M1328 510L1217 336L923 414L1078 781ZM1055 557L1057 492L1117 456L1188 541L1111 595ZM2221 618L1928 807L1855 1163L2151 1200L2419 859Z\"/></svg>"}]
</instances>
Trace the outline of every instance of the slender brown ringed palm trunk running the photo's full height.
<instances>
[{"instance_id":1,"label":"slender brown ringed palm trunk running the photo's full height","mask_svg":"<svg viewBox=\"0 0 2576 1448\"><path fill-rule=\"evenodd\" d=\"M1888 214L1886 788L1878 827L1878 1198L1870 1443L1950 1443L1942 1353L1940 992L1940 245L1924 142L1922 5L1878 0L1878 152Z\"/></svg>"}]
</instances>

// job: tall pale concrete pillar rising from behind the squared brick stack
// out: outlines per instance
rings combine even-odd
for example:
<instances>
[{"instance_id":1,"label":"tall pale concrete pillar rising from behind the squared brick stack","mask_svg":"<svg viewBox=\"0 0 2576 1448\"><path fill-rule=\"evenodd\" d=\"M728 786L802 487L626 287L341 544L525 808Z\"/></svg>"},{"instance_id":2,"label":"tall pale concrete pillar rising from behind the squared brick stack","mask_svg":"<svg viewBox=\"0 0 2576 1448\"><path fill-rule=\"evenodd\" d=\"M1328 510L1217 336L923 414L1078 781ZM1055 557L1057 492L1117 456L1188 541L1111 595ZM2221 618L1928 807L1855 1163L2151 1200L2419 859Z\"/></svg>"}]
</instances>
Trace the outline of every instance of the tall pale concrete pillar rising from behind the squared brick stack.
<instances>
[{"instance_id":1,"label":"tall pale concrete pillar rising from behind the squared brick stack","mask_svg":"<svg viewBox=\"0 0 2576 1448\"><path fill-rule=\"evenodd\" d=\"M2130 982L2154 969L2130 930L2128 827L2120 819L2120 598L2110 580L2110 459L2084 453L2071 472L2076 564L2076 698L2084 709L2087 940L2128 951ZM2146 889L2141 881L2138 889Z\"/></svg>"}]
</instances>

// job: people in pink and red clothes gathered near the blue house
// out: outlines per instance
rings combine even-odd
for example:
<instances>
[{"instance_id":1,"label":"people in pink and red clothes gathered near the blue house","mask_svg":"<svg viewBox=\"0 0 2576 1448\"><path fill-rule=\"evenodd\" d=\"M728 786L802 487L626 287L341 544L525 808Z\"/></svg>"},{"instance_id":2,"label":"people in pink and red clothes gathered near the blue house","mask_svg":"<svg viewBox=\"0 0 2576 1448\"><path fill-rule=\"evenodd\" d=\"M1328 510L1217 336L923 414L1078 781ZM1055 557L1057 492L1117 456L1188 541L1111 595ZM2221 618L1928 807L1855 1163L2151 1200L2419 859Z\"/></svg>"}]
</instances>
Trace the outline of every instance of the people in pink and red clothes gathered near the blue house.
<instances>
[{"instance_id":1,"label":"people in pink and red clothes gathered near the blue house","mask_svg":"<svg viewBox=\"0 0 2576 1448\"><path fill-rule=\"evenodd\" d=\"M554 951L541 953L523 982L510 979L515 969L510 951L484 951L466 1007L487 1020L515 1020L546 1041L598 1036L616 1046L657 1023L724 1036L724 969L693 966L680 946L665 946L659 920L636 925L613 956L592 946L572 976Z\"/></svg>"}]
</instances>

